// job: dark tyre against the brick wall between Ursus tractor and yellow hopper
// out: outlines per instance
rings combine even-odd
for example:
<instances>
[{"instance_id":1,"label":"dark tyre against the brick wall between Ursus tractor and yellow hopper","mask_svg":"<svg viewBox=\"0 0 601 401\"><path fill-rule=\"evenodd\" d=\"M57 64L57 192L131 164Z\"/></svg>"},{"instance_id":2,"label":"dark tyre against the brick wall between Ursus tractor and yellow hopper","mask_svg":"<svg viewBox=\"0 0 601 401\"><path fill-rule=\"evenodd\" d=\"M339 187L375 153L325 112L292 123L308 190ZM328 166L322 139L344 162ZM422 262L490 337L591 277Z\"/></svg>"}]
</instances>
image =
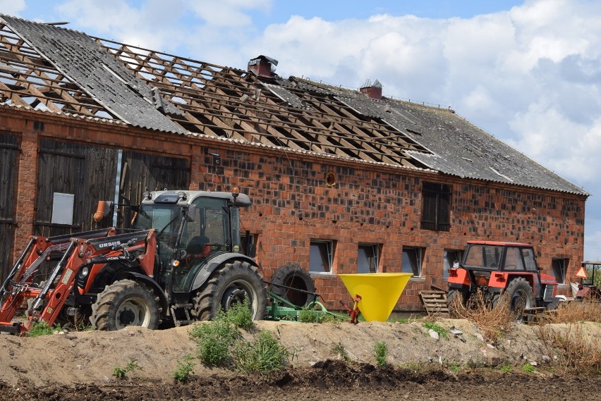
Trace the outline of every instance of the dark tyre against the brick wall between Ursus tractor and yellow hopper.
<instances>
[{"instance_id":1,"label":"dark tyre against the brick wall between Ursus tractor and yellow hopper","mask_svg":"<svg viewBox=\"0 0 601 401\"><path fill-rule=\"evenodd\" d=\"M307 293L315 293L315 283L310 274L298 264L286 264L277 269L270 281L272 283L271 290L275 295L297 307L305 307L315 301L315 295Z\"/></svg>"}]
</instances>

